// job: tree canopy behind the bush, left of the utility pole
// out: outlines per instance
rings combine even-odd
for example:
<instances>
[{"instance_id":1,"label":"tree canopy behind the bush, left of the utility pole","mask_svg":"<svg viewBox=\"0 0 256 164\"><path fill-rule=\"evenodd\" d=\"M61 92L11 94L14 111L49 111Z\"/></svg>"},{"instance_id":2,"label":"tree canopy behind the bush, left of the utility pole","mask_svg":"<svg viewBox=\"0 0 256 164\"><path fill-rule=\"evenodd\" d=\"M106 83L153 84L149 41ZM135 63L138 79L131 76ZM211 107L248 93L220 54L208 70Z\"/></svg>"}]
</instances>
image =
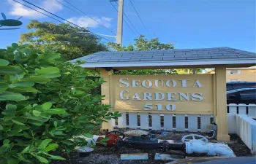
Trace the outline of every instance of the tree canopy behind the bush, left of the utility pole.
<instances>
[{"instance_id":1,"label":"tree canopy behind the bush, left of the utility pole","mask_svg":"<svg viewBox=\"0 0 256 164\"><path fill-rule=\"evenodd\" d=\"M84 28L37 20L31 20L26 28L32 31L21 34L20 44L31 44L39 50L53 49L67 60L108 50L94 34L81 34L80 32L90 32Z\"/></svg>"}]
</instances>

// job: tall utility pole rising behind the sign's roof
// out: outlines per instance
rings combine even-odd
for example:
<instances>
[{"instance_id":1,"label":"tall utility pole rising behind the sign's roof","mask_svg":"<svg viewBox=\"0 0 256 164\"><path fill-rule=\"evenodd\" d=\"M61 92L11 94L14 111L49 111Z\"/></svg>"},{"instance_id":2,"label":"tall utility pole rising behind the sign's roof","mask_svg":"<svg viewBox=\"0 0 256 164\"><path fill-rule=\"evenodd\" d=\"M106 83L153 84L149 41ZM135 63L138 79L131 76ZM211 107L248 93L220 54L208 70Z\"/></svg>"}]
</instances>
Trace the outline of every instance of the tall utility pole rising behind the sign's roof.
<instances>
[{"instance_id":1,"label":"tall utility pole rising behind the sign's roof","mask_svg":"<svg viewBox=\"0 0 256 164\"><path fill-rule=\"evenodd\" d=\"M119 44L120 46L122 44L122 39L123 39L123 13L124 13L124 0L118 0L116 44Z\"/></svg>"}]
</instances>

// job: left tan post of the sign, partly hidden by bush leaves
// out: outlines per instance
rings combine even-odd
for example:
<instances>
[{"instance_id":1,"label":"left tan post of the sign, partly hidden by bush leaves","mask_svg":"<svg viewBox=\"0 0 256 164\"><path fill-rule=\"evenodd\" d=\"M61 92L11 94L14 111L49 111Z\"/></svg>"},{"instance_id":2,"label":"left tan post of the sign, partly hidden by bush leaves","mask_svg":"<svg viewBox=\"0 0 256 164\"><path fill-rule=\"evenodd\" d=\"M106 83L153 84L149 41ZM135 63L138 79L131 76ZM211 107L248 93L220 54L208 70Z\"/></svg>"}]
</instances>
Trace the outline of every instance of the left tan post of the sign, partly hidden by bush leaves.
<instances>
[{"instance_id":1,"label":"left tan post of the sign, partly hidden by bush leaves","mask_svg":"<svg viewBox=\"0 0 256 164\"><path fill-rule=\"evenodd\" d=\"M111 104L110 98L110 76L111 71L105 71L105 69L100 70L100 76L106 81L102 84L102 95L105 95L105 98L102 100L102 104ZM112 108L110 108L110 112L112 112ZM102 123L102 129L111 129L110 121Z\"/></svg>"}]
</instances>

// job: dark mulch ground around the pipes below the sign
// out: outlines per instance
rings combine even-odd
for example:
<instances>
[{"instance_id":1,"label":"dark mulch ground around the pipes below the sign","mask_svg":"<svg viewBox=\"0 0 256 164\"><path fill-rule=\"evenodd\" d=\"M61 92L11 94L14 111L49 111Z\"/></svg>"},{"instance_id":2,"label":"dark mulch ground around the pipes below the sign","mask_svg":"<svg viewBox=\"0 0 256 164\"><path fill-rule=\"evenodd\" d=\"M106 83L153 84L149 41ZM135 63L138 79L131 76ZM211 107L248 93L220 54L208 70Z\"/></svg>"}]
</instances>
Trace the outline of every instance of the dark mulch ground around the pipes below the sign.
<instances>
[{"instance_id":1,"label":"dark mulch ground around the pipes below the sign","mask_svg":"<svg viewBox=\"0 0 256 164\"><path fill-rule=\"evenodd\" d=\"M191 133L175 133L168 132L167 135L161 136L157 135L159 139L171 139L175 142L181 142L181 138L187 134ZM197 133L203 136L211 136L207 133ZM216 140L211 140L211 142L218 142ZM228 146L233 149L236 156L251 156L249 149L246 147L241 138L236 135L230 135L230 141L226 142ZM121 154L132 154L132 153L148 153L149 160L120 160ZM127 147L121 147L120 149L115 149L114 147L99 147L91 152L89 157L79 157L78 153L73 153L68 160L54 161L52 164L161 164L170 161L159 161L154 160L154 155L156 153L162 153L160 149L133 149ZM206 155L192 154L187 155L184 152L178 151L168 151L165 154L171 155L171 157L176 159L184 159L187 157L204 157Z\"/></svg>"}]
</instances>

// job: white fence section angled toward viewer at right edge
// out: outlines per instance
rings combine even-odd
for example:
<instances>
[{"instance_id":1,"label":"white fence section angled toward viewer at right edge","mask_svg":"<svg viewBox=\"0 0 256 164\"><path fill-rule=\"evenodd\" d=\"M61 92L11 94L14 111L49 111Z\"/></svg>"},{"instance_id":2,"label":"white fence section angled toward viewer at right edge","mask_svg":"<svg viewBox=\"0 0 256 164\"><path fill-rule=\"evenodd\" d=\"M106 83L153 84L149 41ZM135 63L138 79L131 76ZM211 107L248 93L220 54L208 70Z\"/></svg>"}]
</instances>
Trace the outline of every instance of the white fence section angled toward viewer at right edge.
<instances>
[{"instance_id":1,"label":"white fence section angled toward viewer at right edge","mask_svg":"<svg viewBox=\"0 0 256 164\"><path fill-rule=\"evenodd\" d=\"M233 126L252 155L256 155L256 121L244 114L236 114L236 125Z\"/></svg>"}]
</instances>

